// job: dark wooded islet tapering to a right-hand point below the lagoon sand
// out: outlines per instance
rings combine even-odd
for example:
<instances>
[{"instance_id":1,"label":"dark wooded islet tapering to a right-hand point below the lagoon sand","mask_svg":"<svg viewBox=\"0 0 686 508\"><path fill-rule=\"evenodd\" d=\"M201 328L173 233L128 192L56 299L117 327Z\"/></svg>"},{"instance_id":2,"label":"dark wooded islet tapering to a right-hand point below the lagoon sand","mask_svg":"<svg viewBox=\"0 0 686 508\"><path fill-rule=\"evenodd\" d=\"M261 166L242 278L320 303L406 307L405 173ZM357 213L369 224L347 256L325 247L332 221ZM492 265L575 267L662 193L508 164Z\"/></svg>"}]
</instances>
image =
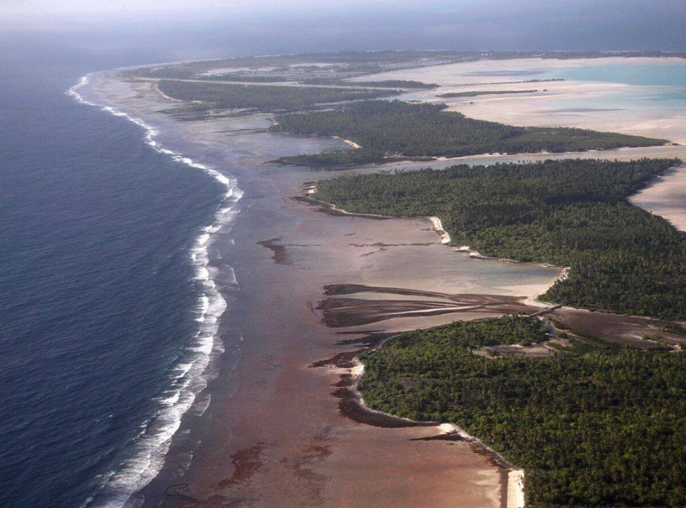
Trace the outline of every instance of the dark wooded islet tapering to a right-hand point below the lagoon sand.
<instances>
[{"instance_id":1,"label":"dark wooded islet tapering to a right-hand point below the lagoon sand","mask_svg":"<svg viewBox=\"0 0 686 508\"><path fill-rule=\"evenodd\" d=\"M650 139L610 132L574 128L525 128L474 120L445 104L408 104L393 101L362 101L337 109L283 114L276 117L276 132L299 135L339 136L368 150L366 162L383 156L468 156L478 153L525 153L586 151L619 146L652 146L664 139ZM381 155L383 154L383 155ZM338 154L359 160L351 150ZM296 156L284 163L324 164L330 156Z\"/></svg>"}]
</instances>

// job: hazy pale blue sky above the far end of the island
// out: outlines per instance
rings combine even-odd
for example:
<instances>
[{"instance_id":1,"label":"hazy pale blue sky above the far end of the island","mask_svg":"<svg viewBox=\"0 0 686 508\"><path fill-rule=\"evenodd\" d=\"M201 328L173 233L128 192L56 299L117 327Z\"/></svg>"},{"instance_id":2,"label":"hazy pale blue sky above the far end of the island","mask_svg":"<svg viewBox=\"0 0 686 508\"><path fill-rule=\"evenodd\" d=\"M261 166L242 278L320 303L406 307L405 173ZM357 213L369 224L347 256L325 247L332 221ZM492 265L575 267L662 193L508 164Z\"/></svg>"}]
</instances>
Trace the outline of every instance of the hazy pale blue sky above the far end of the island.
<instances>
[{"instance_id":1,"label":"hazy pale blue sky above the far end of the island","mask_svg":"<svg viewBox=\"0 0 686 508\"><path fill-rule=\"evenodd\" d=\"M46 43L68 35L96 54L159 46L163 60L317 50L686 51L684 26L686 0L0 0L0 42L8 33Z\"/></svg>"}]
</instances>

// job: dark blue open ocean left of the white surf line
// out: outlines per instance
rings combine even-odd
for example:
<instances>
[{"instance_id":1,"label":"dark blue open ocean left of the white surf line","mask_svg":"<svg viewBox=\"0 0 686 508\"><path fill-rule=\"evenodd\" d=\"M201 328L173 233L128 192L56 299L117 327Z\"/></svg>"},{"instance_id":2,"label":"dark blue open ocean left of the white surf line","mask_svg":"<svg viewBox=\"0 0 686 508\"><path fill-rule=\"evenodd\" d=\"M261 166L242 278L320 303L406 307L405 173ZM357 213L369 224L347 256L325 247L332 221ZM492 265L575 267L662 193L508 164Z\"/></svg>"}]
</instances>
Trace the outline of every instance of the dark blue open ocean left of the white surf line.
<instances>
[{"instance_id":1,"label":"dark blue open ocean left of the white surf line","mask_svg":"<svg viewBox=\"0 0 686 508\"><path fill-rule=\"evenodd\" d=\"M14 49L0 50L0 506L72 507L126 483L159 424L199 327L189 250L226 188L65 95L133 59Z\"/></svg>"}]
</instances>

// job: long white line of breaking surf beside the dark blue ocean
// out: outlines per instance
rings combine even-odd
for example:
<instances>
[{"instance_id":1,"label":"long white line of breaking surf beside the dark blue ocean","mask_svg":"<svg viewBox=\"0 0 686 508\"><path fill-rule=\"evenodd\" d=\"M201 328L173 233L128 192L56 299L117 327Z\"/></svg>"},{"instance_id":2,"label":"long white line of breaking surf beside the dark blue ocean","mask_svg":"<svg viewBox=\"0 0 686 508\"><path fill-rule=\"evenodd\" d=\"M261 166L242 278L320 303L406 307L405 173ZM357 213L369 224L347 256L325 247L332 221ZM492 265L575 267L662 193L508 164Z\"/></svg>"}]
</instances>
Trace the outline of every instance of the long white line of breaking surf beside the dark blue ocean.
<instances>
[{"instance_id":1,"label":"long white line of breaking surf beside the dark blue ocean","mask_svg":"<svg viewBox=\"0 0 686 508\"><path fill-rule=\"evenodd\" d=\"M152 147L158 153L169 156L177 163L186 165L193 170L200 170L205 172L210 177L215 179L219 184L226 188L222 198L222 205L214 217L213 222L207 226L203 226L196 238L194 238L194 245L189 248L188 255L195 266L196 276L195 280L200 280L203 284L203 293L199 296L199 301L196 304L196 311L199 315L195 318L196 330L194 336L188 341L184 347L182 357L180 357L179 364L171 366L171 371L180 371L175 377L175 382L170 386L170 389L177 390L175 394L168 397L167 401L171 404L160 404L156 408L156 421L154 427L151 427L149 432L140 434L135 443L127 446L130 448L140 448L142 453L147 455L142 458L135 456L135 458L128 460L126 465L112 472L113 481L119 483L116 487L114 495L120 499L130 497L140 489L141 485L145 485L152 481L154 477L159 474L163 467L163 461L166 460L166 455L169 451L170 438L173 437L179 430L182 419L186 413L196 411L204 413L206 409L206 401L199 398L199 395L212 377L210 369L213 364L217 362L217 357L224 352L224 345L218 338L219 322L227 310L227 298L222 294L222 291L217 289L215 277L213 276L213 266L210 261L208 248L212 245L215 233L218 233L222 227L230 224L232 216L236 212L236 205L241 200L243 192L238 188L238 182L232 177L227 177L220 172L197 163L195 160L184 156L183 153L166 149L164 146L155 141L158 132L154 127L146 123L137 116L132 116L126 111L116 109L109 104L98 104L85 99L79 90L88 87L93 77L97 78L99 75L105 73L90 73L82 76L76 85L67 90L67 95L72 97L79 104L88 107L95 107L101 111L105 111L112 116L125 118L127 121L137 125L144 131L144 142ZM234 213L232 213L234 212ZM205 406L205 409L203 409ZM166 415L166 413L170 413ZM163 427L159 428L160 425ZM130 476L139 475L135 482L131 482L128 478ZM121 484L123 483L123 484ZM98 490L94 493L93 498L88 502L100 502L100 497L103 495L111 496L112 493L107 493L108 485L103 486L104 491Z\"/></svg>"}]
</instances>

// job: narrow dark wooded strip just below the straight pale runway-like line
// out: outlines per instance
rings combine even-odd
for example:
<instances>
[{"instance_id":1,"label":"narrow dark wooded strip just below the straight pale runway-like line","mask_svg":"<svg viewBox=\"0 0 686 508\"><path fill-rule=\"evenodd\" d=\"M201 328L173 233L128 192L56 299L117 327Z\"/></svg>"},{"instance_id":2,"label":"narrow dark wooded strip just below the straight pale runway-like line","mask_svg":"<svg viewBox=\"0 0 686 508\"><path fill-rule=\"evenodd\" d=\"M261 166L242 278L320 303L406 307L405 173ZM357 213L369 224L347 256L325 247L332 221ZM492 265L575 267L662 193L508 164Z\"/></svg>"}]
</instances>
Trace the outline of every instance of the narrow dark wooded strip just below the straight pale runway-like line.
<instances>
[{"instance_id":1,"label":"narrow dark wooded strip just below the straight pale runway-like line","mask_svg":"<svg viewBox=\"0 0 686 508\"><path fill-rule=\"evenodd\" d=\"M171 80L159 81L158 86L163 94L182 101L200 101L205 106L215 109L254 109L265 112L297 111L316 104L387 97L397 94L395 90L231 85Z\"/></svg>"}]
</instances>

